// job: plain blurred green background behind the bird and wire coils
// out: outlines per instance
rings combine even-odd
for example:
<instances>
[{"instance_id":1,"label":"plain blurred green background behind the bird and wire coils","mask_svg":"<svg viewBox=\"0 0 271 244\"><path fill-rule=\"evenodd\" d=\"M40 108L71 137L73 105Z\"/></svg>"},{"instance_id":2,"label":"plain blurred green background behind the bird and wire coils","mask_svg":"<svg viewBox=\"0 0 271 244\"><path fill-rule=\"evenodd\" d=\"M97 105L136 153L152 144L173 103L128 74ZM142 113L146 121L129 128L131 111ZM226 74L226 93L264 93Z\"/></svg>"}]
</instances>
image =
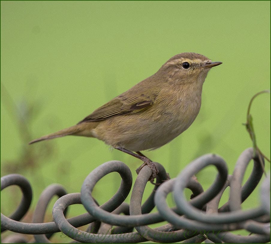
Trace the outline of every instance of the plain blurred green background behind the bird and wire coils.
<instances>
[{"instance_id":1,"label":"plain blurred green background behind the bird and wire coils","mask_svg":"<svg viewBox=\"0 0 271 244\"><path fill-rule=\"evenodd\" d=\"M29 179L32 210L49 184L79 192L88 173L109 160L126 163L134 181L141 161L97 139L27 143L76 124L181 52L223 64L207 75L201 111L190 128L144 154L171 178L206 153L221 155L231 174L252 146L242 125L250 98L270 89L270 1L1 1L1 176ZM258 145L270 157L270 95L257 97L251 113ZM208 167L197 177L207 189L215 175ZM99 203L119 183L117 173L102 179L94 189ZM152 188L147 185L145 197ZM10 203L14 194L18 199ZM4 214L19 203L16 194L18 189L1 195ZM244 208L257 206L258 195L259 188Z\"/></svg>"}]
</instances>

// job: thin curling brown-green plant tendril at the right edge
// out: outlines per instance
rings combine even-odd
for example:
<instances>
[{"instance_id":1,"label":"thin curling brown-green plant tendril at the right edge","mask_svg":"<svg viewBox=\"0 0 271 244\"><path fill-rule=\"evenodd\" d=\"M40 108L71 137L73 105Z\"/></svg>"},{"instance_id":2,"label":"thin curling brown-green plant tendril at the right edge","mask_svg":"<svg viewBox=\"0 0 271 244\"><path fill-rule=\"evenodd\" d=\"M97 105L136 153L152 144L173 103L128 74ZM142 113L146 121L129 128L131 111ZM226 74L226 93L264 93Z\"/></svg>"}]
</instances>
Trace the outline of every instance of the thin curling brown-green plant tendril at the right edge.
<instances>
[{"instance_id":1,"label":"thin curling brown-green plant tendril at the right edge","mask_svg":"<svg viewBox=\"0 0 271 244\"><path fill-rule=\"evenodd\" d=\"M269 163L270 163L270 159L267 156L265 156L257 146L256 135L255 135L255 131L254 131L253 123L252 123L252 116L250 114L250 108L251 108L251 105L252 105L252 101L254 100L255 97L257 97L258 95L260 95L262 93L270 93L270 90L264 90L264 91L258 92L251 98L251 100L249 102L247 115L246 115L246 123L244 123L243 125L246 125L246 129L249 132L249 136L250 136L250 138L252 140L252 146L253 146L253 150L254 150L254 157L256 157L258 155L261 166L262 166L262 168L264 170L264 162L262 160L262 157L264 157ZM264 174L265 174L265 176L267 176L265 170L264 170Z\"/></svg>"}]
</instances>

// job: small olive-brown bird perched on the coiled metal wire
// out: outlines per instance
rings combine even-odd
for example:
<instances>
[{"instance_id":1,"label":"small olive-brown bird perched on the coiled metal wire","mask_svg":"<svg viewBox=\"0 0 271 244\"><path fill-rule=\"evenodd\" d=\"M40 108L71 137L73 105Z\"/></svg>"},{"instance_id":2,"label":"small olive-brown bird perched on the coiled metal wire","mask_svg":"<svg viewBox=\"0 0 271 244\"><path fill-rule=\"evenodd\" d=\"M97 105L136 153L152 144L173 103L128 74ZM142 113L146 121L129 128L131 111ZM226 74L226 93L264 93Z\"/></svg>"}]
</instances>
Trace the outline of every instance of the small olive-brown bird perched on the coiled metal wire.
<instances>
[{"instance_id":1,"label":"small olive-brown bird perched on the coiled metal wire","mask_svg":"<svg viewBox=\"0 0 271 244\"><path fill-rule=\"evenodd\" d=\"M40 137L29 144L67 135L96 137L158 169L140 151L159 148L185 131L201 107L202 85L212 62L197 53L169 59L154 75L96 109L77 125ZM134 153L135 152L135 153Z\"/></svg>"}]
</instances>

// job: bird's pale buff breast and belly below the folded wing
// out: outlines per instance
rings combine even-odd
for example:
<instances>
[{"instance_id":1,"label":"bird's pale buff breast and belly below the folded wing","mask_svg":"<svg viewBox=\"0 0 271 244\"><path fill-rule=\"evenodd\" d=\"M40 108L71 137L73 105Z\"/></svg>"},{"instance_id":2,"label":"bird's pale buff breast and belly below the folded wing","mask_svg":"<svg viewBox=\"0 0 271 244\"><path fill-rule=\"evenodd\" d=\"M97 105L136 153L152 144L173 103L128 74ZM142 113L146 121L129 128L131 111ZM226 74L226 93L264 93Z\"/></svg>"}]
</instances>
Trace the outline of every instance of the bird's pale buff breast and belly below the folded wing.
<instances>
[{"instance_id":1,"label":"bird's pale buff breast and belly below the folded wing","mask_svg":"<svg viewBox=\"0 0 271 244\"><path fill-rule=\"evenodd\" d=\"M158 148L170 142L192 124L200 102L179 94L164 95L146 110L101 121L94 129L96 137L130 151Z\"/></svg>"}]
</instances>

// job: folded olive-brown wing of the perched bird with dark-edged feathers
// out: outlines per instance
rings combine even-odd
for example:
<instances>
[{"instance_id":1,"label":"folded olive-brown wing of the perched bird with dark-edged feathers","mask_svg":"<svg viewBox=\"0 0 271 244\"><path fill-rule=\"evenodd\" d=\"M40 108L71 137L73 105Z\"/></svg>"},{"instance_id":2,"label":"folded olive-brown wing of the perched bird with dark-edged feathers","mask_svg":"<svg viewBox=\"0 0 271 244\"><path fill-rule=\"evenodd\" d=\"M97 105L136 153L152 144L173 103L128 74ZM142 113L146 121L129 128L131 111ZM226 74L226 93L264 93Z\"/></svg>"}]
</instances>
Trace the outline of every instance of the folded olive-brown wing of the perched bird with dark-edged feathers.
<instances>
[{"instance_id":1,"label":"folded olive-brown wing of the perched bird with dark-edged feathers","mask_svg":"<svg viewBox=\"0 0 271 244\"><path fill-rule=\"evenodd\" d=\"M144 97L134 96L127 98L124 95L113 98L108 103L104 104L102 107L96 109L85 119L81 120L78 124L82 122L100 121L105 120L114 116L136 113L142 109L146 109L151 106L156 98L156 94Z\"/></svg>"}]
</instances>

